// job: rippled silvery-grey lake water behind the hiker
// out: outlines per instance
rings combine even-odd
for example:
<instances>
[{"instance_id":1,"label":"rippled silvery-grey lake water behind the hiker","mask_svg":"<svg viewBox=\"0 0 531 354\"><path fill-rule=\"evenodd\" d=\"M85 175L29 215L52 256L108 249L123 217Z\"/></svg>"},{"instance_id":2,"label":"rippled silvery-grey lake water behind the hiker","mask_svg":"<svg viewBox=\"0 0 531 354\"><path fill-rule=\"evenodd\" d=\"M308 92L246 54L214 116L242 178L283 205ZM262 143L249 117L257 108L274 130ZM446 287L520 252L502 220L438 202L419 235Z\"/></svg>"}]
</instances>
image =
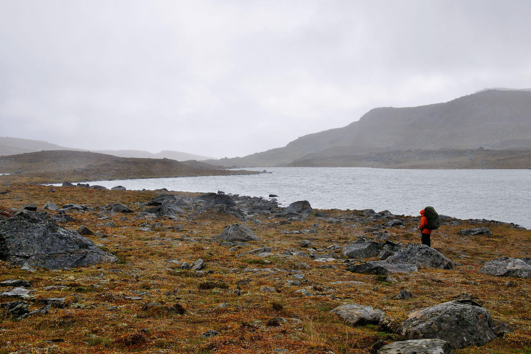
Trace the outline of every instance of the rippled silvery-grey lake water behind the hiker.
<instances>
[{"instance_id":1,"label":"rippled silvery-grey lake water behind the hiker","mask_svg":"<svg viewBox=\"0 0 531 354\"><path fill-rule=\"evenodd\" d=\"M263 170L257 168L256 170ZM105 187L277 194L287 205L308 200L318 209L388 209L418 215L426 205L460 219L494 219L531 228L531 170L405 170L268 168L272 174L99 181Z\"/></svg>"}]
</instances>

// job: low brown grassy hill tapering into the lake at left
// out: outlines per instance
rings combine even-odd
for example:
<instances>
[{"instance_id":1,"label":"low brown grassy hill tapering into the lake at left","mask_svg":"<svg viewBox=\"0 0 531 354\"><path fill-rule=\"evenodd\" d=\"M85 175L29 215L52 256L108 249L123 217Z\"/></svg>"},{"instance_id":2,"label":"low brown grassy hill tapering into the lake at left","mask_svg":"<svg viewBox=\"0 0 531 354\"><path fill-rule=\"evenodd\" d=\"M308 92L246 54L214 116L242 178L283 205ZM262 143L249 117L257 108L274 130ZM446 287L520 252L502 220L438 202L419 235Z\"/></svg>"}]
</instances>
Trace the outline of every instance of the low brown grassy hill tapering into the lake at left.
<instances>
[{"instance_id":1,"label":"low brown grassy hill tapering into the lake at left","mask_svg":"<svg viewBox=\"0 0 531 354\"><path fill-rule=\"evenodd\" d=\"M219 169L198 161L122 158L85 151L39 151L0 157L0 181L50 182L101 179L209 176L256 173Z\"/></svg>"}]
</instances>

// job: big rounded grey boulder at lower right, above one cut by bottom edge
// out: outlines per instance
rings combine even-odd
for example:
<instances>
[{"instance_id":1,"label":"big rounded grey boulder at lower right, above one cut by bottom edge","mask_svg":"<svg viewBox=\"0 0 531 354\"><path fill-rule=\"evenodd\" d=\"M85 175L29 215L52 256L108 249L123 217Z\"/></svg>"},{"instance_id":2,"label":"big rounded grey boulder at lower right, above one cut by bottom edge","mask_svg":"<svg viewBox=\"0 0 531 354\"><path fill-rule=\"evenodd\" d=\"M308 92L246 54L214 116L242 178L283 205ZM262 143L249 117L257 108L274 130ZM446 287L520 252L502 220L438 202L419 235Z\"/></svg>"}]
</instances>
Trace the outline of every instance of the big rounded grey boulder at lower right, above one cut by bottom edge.
<instances>
[{"instance_id":1,"label":"big rounded grey boulder at lower right, above one cut by bottom edge","mask_svg":"<svg viewBox=\"0 0 531 354\"><path fill-rule=\"evenodd\" d=\"M402 322L405 339L442 339L452 349L483 346L496 338L489 312L473 300L452 300L416 310Z\"/></svg>"}]
</instances>

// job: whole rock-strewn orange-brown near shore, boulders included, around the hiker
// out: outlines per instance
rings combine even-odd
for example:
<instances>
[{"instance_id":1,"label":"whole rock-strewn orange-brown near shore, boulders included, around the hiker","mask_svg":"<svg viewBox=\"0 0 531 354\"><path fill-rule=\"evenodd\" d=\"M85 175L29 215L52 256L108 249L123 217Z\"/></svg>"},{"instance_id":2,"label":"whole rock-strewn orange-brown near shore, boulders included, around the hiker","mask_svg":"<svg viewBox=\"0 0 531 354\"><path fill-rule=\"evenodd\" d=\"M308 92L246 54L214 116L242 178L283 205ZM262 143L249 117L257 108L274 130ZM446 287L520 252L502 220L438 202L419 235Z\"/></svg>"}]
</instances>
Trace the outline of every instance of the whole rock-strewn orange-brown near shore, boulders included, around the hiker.
<instances>
[{"instance_id":1,"label":"whole rock-strewn orange-brown near shore, boulders included, around the hiker","mask_svg":"<svg viewBox=\"0 0 531 354\"><path fill-rule=\"evenodd\" d=\"M5 352L531 347L518 225L441 215L427 247L388 210L90 187L0 187Z\"/></svg>"}]
</instances>

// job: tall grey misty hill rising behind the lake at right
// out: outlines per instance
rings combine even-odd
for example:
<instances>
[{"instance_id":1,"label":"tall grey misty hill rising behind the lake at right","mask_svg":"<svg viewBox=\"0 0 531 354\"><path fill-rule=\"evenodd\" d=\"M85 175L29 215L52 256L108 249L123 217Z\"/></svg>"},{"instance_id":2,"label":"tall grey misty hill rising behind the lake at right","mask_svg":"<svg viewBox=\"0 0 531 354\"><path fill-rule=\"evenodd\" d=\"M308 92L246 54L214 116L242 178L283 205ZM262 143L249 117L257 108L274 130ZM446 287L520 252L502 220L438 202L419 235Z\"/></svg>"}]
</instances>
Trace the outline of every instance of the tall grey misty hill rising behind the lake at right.
<instances>
[{"instance_id":1,"label":"tall grey misty hill rising behind the lake at right","mask_svg":"<svg viewBox=\"0 0 531 354\"><path fill-rule=\"evenodd\" d=\"M486 90L445 103L374 108L357 122L299 137L225 166L279 166L294 160L409 149L531 149L531 92Z\"/></svg>"}]
</instances>

